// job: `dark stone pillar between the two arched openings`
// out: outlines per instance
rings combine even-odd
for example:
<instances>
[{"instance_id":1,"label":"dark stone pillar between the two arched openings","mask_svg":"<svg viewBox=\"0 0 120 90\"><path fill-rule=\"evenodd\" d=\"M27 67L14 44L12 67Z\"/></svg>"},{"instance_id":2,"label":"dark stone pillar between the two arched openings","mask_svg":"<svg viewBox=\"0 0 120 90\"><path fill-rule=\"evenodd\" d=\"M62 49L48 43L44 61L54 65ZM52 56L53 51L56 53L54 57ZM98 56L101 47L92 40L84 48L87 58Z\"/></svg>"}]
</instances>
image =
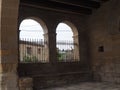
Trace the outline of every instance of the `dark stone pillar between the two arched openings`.
<instances>
[{"instance_id":1,"label":"dark stone pillar between the two arched openings","mask_svg":"<svg viewBox=\"0 0 120 90\"><path fill-rule=\"evenodd\" d=\"M56 54L56 33L46 33L44 38L47 41L47 50L48 50L48 60L50 63L56 63L57 54Z\"/></svg>"}]
</instances>

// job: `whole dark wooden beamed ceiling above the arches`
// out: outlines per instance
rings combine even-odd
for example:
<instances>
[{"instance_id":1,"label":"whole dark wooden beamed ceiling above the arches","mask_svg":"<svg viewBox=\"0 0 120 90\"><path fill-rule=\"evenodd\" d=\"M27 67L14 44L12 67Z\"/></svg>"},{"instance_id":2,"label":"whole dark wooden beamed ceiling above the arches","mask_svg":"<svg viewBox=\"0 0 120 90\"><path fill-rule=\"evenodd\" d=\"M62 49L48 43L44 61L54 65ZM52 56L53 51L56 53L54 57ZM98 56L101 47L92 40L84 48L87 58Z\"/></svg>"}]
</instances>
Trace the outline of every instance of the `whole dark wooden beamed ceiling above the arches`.
<instances>
[{"instance_id":1,"label":"whole dark wooden beamed ceiling above the arches","mask_svg":"<svg viewBox=\"0 0 120 90\"><path fill-rule=\"evenodd\" d=\"M90 15L93 9L99 8L106 1L108 0L20 0L20 5Z\"/></svg>"}]
</instances>

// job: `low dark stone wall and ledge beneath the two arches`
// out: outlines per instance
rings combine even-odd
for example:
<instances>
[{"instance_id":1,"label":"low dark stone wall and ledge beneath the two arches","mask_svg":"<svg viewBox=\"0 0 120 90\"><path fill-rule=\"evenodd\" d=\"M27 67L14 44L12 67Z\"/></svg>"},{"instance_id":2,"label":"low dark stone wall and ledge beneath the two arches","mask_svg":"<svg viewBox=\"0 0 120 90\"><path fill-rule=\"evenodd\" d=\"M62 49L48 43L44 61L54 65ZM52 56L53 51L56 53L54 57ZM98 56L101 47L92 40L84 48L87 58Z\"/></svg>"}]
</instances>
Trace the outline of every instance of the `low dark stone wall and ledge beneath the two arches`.
<instances>
[{"instance_id":1,"label":"low dark stone wall and ledge beneath the two arches","mask_svg":"<svg viewBox=\"0 0 120 90\"><path fill-rule=\"evenodd\" d=\"M33 79L34 90L92 80L90 68L79 62L21 63L18 71L20 78L31 77Z\"/></svg>"}]
</instances>

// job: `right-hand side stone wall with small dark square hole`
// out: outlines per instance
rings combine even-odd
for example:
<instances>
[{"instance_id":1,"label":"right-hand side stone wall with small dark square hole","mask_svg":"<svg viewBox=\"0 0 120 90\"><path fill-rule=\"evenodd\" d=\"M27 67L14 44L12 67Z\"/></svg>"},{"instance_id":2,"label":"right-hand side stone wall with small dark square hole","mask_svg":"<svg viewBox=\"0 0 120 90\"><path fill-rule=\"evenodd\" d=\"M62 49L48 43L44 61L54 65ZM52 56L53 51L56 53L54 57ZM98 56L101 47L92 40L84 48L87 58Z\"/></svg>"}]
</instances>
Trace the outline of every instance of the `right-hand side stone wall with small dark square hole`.
<instances>
[{"instance_id":1,"label":"right-hand side stone wall with small dark square hole","mask_svg":"<svg viewBox=\"0 0 120 90\"><path fill-rule=\"evenodd\" d=\"M110 0L88 20L94 80L120 82L120 0Z\"/></svg>"}]
</instances>

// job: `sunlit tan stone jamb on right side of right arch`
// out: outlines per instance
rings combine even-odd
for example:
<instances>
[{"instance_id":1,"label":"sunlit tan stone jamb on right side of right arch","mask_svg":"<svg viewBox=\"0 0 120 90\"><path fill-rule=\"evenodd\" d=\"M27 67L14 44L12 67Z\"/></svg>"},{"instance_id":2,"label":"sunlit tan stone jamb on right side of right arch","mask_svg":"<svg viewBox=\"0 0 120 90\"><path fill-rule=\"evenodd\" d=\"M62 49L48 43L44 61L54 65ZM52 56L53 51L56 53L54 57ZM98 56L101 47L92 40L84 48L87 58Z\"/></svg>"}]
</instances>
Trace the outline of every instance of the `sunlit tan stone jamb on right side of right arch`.
<instances>
[{"instance_id":1,"label":"sunlit tan stone jamb on right side of right arch","mask_svg":"<svg viewBox=\"0 0 120 90\"><path fill-rule=\"evenodd\" d=\"M73 40L74 40L74 59L75 60L80 60L80 53L79 53L79 36L78 35L74 35L73 36Z\"/></svg>"}]
</instances>

